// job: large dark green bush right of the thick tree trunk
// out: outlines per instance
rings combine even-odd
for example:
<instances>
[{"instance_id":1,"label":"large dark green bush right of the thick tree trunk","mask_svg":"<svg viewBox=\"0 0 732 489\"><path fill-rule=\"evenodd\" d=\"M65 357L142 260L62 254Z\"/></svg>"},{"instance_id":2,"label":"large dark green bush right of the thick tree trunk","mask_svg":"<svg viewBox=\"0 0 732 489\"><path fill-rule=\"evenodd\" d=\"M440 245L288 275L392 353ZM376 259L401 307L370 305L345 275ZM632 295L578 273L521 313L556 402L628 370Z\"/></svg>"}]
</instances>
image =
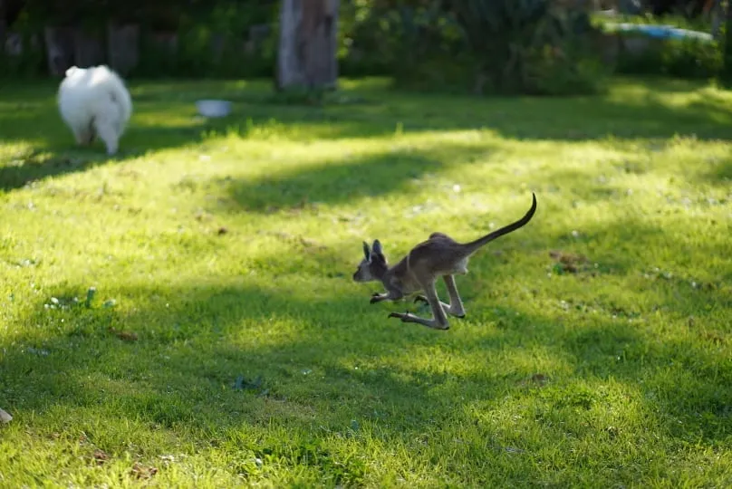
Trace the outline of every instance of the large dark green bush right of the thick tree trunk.
<instances>
[{"instance_id":1,"label":"large dark green bush right of the thick tree trunk","mask_svg":"<svg viewBox=\"0 0 732 489\"><path fill-rule=\"evenodd\" d=\"M545 0L401 3L380 14L381 55L398 86L486 93L602 90L583 12Z\"/></svg>"}]
</instances>

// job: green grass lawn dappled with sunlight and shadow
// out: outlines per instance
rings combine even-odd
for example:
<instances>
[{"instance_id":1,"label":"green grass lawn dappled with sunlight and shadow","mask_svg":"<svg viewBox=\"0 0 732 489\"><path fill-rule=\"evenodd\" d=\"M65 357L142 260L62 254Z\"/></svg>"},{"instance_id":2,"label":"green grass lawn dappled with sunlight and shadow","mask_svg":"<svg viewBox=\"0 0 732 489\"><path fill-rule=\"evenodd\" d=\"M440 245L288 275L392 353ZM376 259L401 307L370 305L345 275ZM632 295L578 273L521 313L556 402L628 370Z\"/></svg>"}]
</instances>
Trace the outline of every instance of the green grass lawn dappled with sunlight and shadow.
<instances>
[{"instance_id":1,"label":"green grass lawn dappled with sunlight and shadow","mask_svg":"<svg viewBox=\"0 0 732 489\"><path fill-rule=\"evenodd\" d=\"M0 485L732 484L732 92L342 86L130 82L117 158L0 86ZM448 331L352 282L532 191Z\"/></svg>"}]
</instances>

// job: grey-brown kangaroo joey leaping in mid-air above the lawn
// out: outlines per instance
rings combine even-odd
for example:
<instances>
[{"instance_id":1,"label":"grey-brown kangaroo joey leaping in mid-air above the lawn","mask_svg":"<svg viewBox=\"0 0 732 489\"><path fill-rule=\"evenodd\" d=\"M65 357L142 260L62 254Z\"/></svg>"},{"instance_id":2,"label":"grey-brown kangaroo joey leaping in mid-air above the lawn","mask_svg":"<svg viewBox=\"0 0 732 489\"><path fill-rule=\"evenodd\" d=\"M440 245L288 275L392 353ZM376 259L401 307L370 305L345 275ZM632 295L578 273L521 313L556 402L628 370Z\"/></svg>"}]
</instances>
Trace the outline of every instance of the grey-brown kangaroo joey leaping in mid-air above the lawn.
<instances>
[{"instance_id":1,"label":"grey-brown kangaroo joey leaping in mid-air above the lawn","mask_svg":"<svg viewBox=\"0 0 732 489\"><path fill-rule=\"evenodd\" d=\"M371 248L363 242L364 258L359 264L356 273L353 273L355 282L380 282L385 293L374 292L371 303L381 301L399 301L409 294L425 292L417 295L415 302L429 303L432 309L432 319L420 318L410 312L391 312L390 318L399 318L404 322L416 322L436 330L448 330L447 314L465 317L465 308L457 293L453 275L467 273L467 261L483 245L494 239L511 233L526 225L534 216L536 210L536 196L532 193L531 208L525 216L510 225L496 229L496 231L478 238L470 243L457 243L448 235L432 233L429 239L416 245L398 264L389 266L379 240L375 240ZM442 277L448 288L450 302L441 302L435 288L438 277Z\"/></svg>"}]
</instances>

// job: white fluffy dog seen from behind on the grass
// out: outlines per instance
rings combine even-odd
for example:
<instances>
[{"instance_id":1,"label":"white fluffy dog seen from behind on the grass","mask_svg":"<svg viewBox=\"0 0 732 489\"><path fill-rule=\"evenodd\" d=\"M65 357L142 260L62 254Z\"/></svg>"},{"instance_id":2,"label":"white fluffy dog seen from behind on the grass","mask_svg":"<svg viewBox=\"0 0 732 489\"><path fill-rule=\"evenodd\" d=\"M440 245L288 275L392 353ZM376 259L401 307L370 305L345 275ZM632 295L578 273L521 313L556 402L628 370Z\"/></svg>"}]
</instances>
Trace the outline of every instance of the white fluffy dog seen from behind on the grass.
<instances>
[{"instance_id":1,"label":"white fluffy dog seen from behind on the grass","mask_svg":"<svg viewBox=\"0 0 732 489\"><path fill-rule=\"evenodd\" d=\"M107 154L117 152L130 116L130 92L117 73L106 65L66 70L58 92L63 121L73 131L77 144L91 144L99 136Z\"/></svg>"}]
</instances>

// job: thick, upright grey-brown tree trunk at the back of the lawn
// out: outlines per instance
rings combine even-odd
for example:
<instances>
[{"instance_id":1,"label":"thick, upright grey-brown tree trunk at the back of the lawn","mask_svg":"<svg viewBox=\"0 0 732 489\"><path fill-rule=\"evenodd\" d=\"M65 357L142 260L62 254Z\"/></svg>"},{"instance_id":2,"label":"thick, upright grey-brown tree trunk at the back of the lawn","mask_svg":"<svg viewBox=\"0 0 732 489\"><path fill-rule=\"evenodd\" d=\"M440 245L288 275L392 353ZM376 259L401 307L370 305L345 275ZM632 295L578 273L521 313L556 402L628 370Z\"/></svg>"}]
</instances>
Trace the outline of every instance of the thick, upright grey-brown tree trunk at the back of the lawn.
<instances>
[{"instance_id":1,"label":"thick, upright grey-brown tree trunk at the back of the lawn","mask_svg":"<svg viewBox=\"0 0 732 489\"><path fill-rule=\"evenodd\" d=\"M283 0L276 88L335 88L339 0Z\"/></svg>"}]
</instances>

